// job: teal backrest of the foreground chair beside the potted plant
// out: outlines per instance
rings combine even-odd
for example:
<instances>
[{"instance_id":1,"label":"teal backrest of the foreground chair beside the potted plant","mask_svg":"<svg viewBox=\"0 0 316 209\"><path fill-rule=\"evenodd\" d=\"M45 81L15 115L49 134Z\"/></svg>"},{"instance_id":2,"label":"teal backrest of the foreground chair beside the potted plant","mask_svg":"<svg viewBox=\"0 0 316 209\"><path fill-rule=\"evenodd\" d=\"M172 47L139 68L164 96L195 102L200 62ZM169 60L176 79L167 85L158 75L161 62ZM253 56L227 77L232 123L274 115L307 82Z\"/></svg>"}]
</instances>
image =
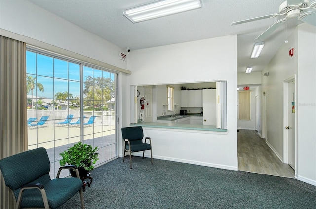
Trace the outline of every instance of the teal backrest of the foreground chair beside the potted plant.
<instances>
[{"instance_id":1,"label":"teal backrest of the foreground chair beside the potted plant","mask_svg":"<svg viewBox=\"0 0 316 209\"><path fill-rule=\"evenodd\" d=\"M50 162L45 148L22 152L0 160L5 185L13 191L36 179L50 181Z\"/></svg>"}]
</instances>

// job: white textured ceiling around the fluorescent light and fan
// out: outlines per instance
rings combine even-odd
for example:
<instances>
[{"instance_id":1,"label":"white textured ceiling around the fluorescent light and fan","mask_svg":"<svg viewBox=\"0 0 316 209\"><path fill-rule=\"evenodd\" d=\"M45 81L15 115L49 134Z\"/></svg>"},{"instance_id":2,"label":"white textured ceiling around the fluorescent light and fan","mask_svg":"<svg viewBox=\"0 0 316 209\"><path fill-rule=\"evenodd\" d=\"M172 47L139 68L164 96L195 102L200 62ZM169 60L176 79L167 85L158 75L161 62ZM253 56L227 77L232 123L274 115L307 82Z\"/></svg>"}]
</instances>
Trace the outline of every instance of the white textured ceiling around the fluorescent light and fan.
<instances>
[{"instance_id":1,"label":"white textured ceiling around the fluorescent light and fan","mask_svg":"<svg viewBox=\"0 0 316 209\"><path fill-rule=\"evenodd\" d=\"M237 34L237 72L254 66L262 71L298 23L287 21L265 41L257 59L250 59L254 39L279 17L231 26L232 22L278 12L283 0L201 0L202 8L133 24L123 10L157 0L30 0L34 4L131 50ZM259 40L260 41L260 40ZM262 41L262 40L261 40ZM225 55L223 55L225 56Z\"/></svg>"}]
</instances>

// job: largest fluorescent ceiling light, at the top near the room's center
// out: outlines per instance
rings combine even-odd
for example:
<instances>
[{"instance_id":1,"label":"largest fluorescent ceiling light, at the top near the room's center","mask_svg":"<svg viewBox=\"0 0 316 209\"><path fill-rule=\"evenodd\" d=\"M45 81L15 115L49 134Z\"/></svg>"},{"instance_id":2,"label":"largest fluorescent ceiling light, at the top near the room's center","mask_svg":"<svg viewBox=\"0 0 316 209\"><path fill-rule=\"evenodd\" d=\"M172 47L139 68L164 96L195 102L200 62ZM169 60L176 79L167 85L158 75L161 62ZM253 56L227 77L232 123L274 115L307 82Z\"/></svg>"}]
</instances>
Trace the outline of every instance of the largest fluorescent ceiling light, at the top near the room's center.
<instances>
[{"instance_id":1,"label":"largest fluorescent ceiling light, at the top near the room's center","mask_svg":"<svg viewBox=\"0 0 316 209\"><path fill-rule=\"evenodd\" d=\"M126 9L123 14L132 23L137 23L201 7L200 0L161 0L136 8Z\"/></svg>"}]
</instances>

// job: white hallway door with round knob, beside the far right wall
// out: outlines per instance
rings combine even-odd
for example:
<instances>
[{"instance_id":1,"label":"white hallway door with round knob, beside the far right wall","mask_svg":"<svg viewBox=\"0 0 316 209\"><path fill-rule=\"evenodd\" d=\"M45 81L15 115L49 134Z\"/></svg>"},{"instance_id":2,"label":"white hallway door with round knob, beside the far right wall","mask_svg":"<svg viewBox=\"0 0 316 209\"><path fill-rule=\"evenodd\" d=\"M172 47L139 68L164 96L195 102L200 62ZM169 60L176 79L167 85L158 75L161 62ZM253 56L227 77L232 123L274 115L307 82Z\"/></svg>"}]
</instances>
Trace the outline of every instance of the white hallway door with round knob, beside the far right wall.
<instances>
[{"instance_id":1,"label":"white hallway door with round knob, beside the far right wall","mask_svg":"<svg viewBox=\"0 0 316 209\"><path fill-rule=\"evenodd\" d=\"M287 126L288 132L288 164L295 170L295 83L294 79L287 83ZM286 125L286 124L285 124Z\"/></svg>"}]
</instances>

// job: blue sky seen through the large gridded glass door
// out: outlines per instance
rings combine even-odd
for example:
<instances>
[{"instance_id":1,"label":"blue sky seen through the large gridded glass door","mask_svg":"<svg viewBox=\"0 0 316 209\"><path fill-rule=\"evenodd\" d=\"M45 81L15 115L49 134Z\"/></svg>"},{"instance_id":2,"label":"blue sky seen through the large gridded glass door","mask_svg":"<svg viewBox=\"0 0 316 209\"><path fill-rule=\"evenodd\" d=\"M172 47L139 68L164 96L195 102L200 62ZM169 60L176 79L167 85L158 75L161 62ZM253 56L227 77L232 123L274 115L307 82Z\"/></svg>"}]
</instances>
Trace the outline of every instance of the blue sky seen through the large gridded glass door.
<instances>
[{"instance_id":1,"label":"blue sky seen through the large gridded glass door","mask_svg":"<svg viewBox=\"0 0 316 209\"><path fill-rule=\"evenodd\" d=\"M27 74L33 77L36 76L37 72L37 82L44 86L44 92L37 92L38 97L53 99L56 93L66 91L71 93L73 97L80 95L80 65L78 63L27 51L26 70ZM113 73L83 66L83 81L87 76L114 80ZM35 90L33 94L36 95ZM28 95L31 95L31 92Z\"/></svg>"}]
</instances>

